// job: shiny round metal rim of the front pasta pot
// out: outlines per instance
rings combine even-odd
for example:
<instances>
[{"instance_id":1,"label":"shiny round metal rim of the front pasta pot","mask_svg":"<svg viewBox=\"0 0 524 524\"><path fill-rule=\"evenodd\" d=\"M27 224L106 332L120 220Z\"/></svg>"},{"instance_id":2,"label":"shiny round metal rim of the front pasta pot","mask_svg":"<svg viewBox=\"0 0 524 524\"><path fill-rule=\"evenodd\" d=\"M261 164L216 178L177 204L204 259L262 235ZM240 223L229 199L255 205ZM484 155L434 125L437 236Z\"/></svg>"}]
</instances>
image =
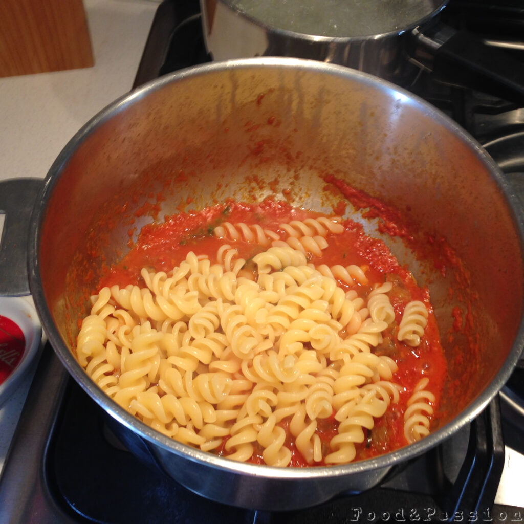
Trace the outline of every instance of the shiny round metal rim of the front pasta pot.
<instances>
[{"instance_id":1,"label":"shiny round metal rim of the front pasta pot","mask_svg":"<svg viewBox=\"0 0 524 524\"><path fill-rule=\"evenodd\" d=\"M69 140L67 145L62 149L57 159L50 167L46 179L42 184L40 194L36 200L35 208L32 212L29 243L28 243L28 269L29 269L29 283L32 296L35 301L35 307L39 313L41 323L46 331L49 342L53 347L54 352L58 355L62 364L68 369L69 373L77 381L77 383L84 389L91 398L93 398L101 408L103 408L114 419L121 422L125 427L131 429L136 434L141 436L150 443L160 446L163 450L184 456L192 461L206 464L221 470L230 471L232 473L242 473L247 476L256 476L264 478L279 478L279 479L321 479L326 476L346 476L354 473L363 473L367 471L377 470L397 464L399 461L412 459L418 455L427 452L432 447L438 445L443 440L449 438L456 431L461 429L466 423L472 421L480 414L490 401L504 386L510 374L514 370L519 360L522 346L524 346L524 318L521 319L519 330L516 334L515 341L511 347L508 357L501 369L491 381L490 384L482 391L482 393L470 403L459 415L446 423L443 427L430 433L424 439L400 448L399 450L379 455L373 459L367 459L358 462L351 462L342 465L330 466L311 466L311 467L285 467L280 468L276 466L247 464L236 462L224 457L213 455L212 453L203 452L191 446L181 444L173 439L168 438L161 433L151 429L148 425L136 419L125 409L118 406L117 403L108 397L91 378L85 373L73 354L70 352L67 345L63 342L58 329L54 325L51 312L47 307L43 287L40 282L40 261L39 261L39 244L40 232L43 221L46 215L46 206L50 195L53 192L53 187L60 178L65 165L67 165L69 158L74 154L75 149L82 141L91 133L96 132L96 129L101 126L108 119L126 107L132 105L141 98L161 89L162 86L178 82L183 79L194 77L195 75L203 75L206 73L228 70L232 68L253 68L253 67L280 67L280 68L299 68L302 70L315 71L323 74L340 75L342 77L357 79L368 85L372 85L382 91L389 91L401 99L406 99L411 104L420 105L424 112L435 118L445 128L454 133L457 139L464 140L468 143L475 155L489 170L492 177L499 185L501 192L503 192L508 207L512 211L516 230L520 237L520 249L524 254L524 210L519 204L517 196L512 192L509 182L504 178L495 161L487 154L485 149L478 144L478 142L469 135L464 129L456 124L450 117L445 115L438 108L425 102L420 97L399 88L398 86L387 82L383 79L374 77L368 73L353 70L325 62L314 60L305 60L297 58L247 58L222 62L211 62L203 65L197 65L187 69L183 69L174 73L170 73L152 80L143 86L119 97L114 102L107 105L99 113L94 115L79 131Z\"/></svg>"}]
</instances>

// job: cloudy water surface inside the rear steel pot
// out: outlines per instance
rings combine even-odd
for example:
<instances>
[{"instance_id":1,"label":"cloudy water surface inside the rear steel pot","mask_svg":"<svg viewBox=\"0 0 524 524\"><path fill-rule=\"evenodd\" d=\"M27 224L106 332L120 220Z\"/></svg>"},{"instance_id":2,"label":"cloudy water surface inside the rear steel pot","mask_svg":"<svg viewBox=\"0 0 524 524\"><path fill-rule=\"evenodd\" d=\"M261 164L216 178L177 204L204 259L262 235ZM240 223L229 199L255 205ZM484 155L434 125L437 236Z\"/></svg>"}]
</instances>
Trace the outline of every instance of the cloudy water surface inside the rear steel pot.
<instances>
[{"instance_id":1,"label":"cloudy water surface inside the rear steel pot","mask_svg":"<svg viewBox=\"0 0 524 524\"><path fill-rule=\"evenodd\" d=\"M401 33L439 12L447 0L225 0L265 27L352 38Z\"/></svg>"}]
</instances>

